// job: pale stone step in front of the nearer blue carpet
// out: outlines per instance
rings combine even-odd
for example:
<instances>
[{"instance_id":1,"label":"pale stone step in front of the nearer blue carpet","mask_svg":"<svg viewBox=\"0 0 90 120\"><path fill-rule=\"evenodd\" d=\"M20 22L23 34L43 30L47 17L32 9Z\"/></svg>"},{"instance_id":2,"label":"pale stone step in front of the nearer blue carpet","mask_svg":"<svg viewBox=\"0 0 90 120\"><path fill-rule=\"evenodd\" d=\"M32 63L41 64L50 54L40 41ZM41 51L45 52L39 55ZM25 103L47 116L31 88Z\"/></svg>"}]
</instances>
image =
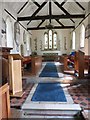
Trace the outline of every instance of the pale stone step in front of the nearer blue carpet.
<instances>
[{"instance_id":1,"label":"pale stone step in front of the nearer blue carpet","mask_svg":"<svg viewBox=\"0 0 90 120\"><path fill-rule=\"evenodd\" d=\"M22 106L22 110L27 115L43 114L43 115L76 115L81 111L79 104L48 104L48 103L26 103Z\"/></svg>"}]
</instances>

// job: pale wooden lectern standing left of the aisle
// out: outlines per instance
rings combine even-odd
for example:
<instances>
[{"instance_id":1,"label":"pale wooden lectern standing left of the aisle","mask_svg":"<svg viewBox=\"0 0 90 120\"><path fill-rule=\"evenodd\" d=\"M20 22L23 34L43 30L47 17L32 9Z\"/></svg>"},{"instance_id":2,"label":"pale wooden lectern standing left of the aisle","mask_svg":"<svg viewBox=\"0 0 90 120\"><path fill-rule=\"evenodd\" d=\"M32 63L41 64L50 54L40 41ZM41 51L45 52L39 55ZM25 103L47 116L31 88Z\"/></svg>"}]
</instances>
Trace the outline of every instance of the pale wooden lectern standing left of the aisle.
<instances>
[{"instance_id":1,"label":"pale wooden lectern standing left of the aisle","mask_svg":"<svg viewBox=\"0 0 90 120\"><path fill-rule=\"evenodd\" d=\"M9 80L11 96L22 97L22 71L21 71L21 59L23 57L19 54L10 54L9 60Z\"/></svg>"}]
</instances>

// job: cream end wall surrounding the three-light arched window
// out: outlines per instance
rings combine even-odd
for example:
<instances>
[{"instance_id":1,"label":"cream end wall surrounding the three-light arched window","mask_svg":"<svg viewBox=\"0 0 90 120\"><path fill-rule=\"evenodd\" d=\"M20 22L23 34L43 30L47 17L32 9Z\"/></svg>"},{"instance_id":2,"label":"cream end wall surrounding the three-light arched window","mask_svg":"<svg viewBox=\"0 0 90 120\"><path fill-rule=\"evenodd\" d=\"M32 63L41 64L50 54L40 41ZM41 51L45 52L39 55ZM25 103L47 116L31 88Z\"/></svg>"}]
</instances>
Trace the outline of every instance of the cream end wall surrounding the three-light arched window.
<instances>
[{"instance_id":1,"label":"cream end wall surrounding the three-light arched window","mask_svg":"<svg viewBox=\"0 0 90 120\"><path fill-rule=\"evenodd\" d=\"M58 53L58 54L69 54L70 53L70 30L54 30L57 32L58 50L55 51L44 51L44 33L47 30L36 30L32 31L32 51L37 51L39 55L43 53ZM64 40L66 39L66 48L64 48ZM37 41L37 50L35 50L35 40Z\"/></svg>"}]
</instances>

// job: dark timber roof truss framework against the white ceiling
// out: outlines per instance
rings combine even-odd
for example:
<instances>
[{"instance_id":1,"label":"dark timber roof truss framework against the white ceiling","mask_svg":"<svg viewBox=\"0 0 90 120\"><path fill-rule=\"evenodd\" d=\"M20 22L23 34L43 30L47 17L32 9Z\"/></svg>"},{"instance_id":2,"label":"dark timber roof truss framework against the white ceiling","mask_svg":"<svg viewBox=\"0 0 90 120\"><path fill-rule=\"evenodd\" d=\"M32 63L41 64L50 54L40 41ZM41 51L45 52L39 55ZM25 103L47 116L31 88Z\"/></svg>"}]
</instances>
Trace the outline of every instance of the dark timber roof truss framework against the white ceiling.
<instances>
[{"instance_id":1,"label":"dark timber roof truss framework against the white ceiling","mask_svg":"<svg viewBox=\"0 0 90 120\"><path fill-rule=\"evenodd\" d=\"M41 30L41 29L47 29L46 27L41 27L41 25L43 24L43 22L45 20L49 20L49 23L51 24L52 19L56 20L57 23L59 24L59 26L54 26L51 29L70 29L70 28L75 28L75 26L65 26L62 22L60 22L60 19L69 19L72 21L72 23L75 24L75 21L73 19L84 19L85 18L85 14L70 14L64 7L64 4L68 1L68 0L63 0L63 2L59 3L57 2L57 0L45 0L44 2L42 2L42 4L39 4L38 2L36 2L36 0L31 0L33 2L33 4L35 4L37 6L37 9L34 11L34 13L31 16L22 16L22 17L17 17L17 21L28 21L27 25L30 24L30 22L34 21L34 20L41 20L41 22L38 24L37 27L30 27L27 28L27 30ZM76 0L74 0L75 3L82 9L85 10L84 7L77 2ZM62 10L63 14L58 14L58 15L53 15L52 13L52 2L60 9ZM38 13L40 12L40 10L43 9L43 7L49 3L49 12L48 15L38 15ZM20 8L20 10L17 12L17 14L19 14L24 7L28 4L28 1Z\"/></svg>"}]
</instances>

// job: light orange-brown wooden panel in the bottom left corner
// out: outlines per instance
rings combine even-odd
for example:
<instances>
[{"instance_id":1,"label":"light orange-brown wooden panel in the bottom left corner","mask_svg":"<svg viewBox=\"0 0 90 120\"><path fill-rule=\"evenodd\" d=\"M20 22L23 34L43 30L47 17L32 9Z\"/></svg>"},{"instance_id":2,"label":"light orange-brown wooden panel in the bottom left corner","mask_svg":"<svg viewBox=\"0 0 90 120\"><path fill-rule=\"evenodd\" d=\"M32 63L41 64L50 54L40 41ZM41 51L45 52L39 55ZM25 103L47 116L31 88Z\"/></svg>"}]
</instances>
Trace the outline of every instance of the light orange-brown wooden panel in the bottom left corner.
<instances>
[{"instance_id":1,"label":"light orange-brown wooden panel in the bottom left corner","mask_svg":"<svg viewBox=\"0 0 90 120\"><path fill-rule=\"evenodd\" d=\"M10 117L10 97L9 86L4 84L0 87L0 120L5 118L7 120Z\"/></svg>"}]
</instances>

